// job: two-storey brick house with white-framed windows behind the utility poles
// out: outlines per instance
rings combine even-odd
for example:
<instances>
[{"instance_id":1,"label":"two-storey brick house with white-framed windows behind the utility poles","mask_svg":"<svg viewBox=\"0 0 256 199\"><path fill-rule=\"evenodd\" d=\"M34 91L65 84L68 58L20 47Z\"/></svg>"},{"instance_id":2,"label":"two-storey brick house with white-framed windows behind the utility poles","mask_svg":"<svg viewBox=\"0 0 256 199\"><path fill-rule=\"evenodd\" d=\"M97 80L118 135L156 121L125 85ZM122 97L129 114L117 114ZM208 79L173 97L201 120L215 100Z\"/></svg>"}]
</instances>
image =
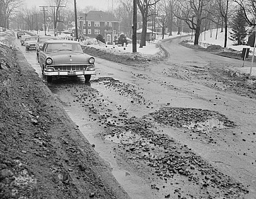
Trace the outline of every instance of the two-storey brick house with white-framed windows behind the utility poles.
<instances>
[{"instance_id":1,"label":"two-storey brick house with white-framed windows behind the utility poles","mask_svg":"<svg viewBox=\"0 0 256 199\"><path fill-rule=\"evenodd\" d=\"M108 43L113 43L115 36L118 38L119 23L112 14L103 11L89 11L77 20L80 34L90 38L96 38L100 34Z\"/></svg>"}]
</instances>

